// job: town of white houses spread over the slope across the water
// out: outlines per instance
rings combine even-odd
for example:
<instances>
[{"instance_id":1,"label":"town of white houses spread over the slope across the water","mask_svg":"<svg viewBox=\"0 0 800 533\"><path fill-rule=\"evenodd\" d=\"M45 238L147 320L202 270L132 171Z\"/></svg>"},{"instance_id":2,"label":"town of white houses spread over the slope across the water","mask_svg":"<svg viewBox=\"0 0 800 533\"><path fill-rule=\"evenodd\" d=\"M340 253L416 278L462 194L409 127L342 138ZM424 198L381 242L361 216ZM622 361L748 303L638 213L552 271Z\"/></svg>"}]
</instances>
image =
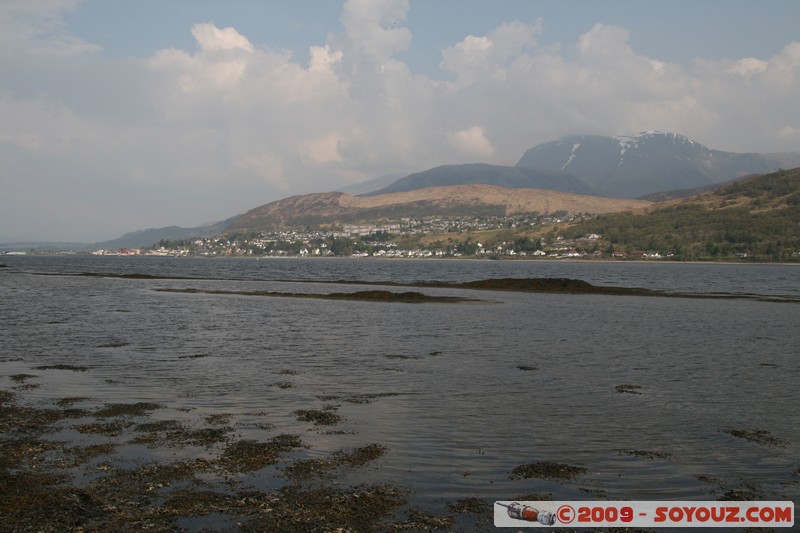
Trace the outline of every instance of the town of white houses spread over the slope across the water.
<instances>
[{"instance_id":1,"label":"town of white houses spread over the slope across the water","mask_svg":"<svg viewBox=\"0 0 800 533\"><path fill-rule=\"evenodd\" d=\"M162 240L145 248L99 249L93 255L383 257L383 258L618 258L663 259L658 250L615 251L589 233L566 238L559 225L590 215L401 218L373 224L340 224L192 239Z\"/></svg>"}]
</instances>

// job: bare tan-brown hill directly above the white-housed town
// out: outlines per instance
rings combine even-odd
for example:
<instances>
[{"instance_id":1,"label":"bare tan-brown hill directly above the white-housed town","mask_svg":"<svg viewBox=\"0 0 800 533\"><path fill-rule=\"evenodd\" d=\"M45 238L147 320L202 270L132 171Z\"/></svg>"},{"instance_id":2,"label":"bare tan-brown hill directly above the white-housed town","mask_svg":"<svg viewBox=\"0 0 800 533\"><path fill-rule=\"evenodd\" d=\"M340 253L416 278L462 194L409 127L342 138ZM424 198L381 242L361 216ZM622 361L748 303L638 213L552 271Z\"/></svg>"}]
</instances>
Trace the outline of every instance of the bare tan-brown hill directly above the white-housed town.
<instances>
[{"instance_id":1,"label":"bare tan-brown hill directly above the white-housed town","mask_svg":"<svg viewBox=\"0 0 800 533\"><path fill-rule=\"evenodd\" d=\"M548 214L556 211L601 214L649 205L651 202L645 200L494 185L433 187L366 197L331 192L292 196L257 207L236 219L227 231L261 231L295 225L437 215Z\"/></svg>"}]
</instances>

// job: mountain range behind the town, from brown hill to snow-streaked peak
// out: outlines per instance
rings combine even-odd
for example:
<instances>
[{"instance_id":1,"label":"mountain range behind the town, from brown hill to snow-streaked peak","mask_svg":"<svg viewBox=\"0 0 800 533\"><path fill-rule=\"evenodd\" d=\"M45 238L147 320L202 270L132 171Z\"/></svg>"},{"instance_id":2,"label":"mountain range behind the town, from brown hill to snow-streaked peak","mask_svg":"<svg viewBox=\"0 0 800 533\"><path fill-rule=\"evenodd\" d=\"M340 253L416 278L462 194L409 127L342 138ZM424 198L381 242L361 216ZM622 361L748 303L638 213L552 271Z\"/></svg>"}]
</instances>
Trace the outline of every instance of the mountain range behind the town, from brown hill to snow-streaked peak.
<instances>
[{"instance_id":1,"label":"mountain range behind the town, from brown hill to snow-streaked peak","mask_svg":"<svg viewBox=\"0 0 800 533\"><path fill-rule=\"evenodd\" d=\"M571 135L527 150L514 166L442 165L406 176L382 176L344 189L351 194L293 196L197 228L141 230L90 246L135 248L161 239L391 217L502 215L521 210L600 214L794 167L800 167L797 152L724 152L677 133ZM635 198L641 200L632 201Z\"/></svg>"}]
</instances>

